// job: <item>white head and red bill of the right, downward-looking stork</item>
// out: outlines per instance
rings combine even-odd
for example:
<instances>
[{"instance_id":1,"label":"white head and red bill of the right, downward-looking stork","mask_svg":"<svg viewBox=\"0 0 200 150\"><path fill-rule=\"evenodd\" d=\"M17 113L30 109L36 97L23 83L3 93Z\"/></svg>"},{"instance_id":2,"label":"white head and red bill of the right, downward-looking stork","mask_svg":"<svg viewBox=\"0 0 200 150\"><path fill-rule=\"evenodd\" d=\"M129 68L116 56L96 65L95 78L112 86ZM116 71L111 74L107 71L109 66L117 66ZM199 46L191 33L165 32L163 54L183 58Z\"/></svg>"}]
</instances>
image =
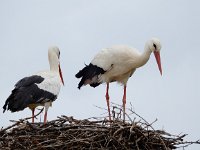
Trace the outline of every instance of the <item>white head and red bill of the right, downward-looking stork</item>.
<instances>
[{"instance_id":1,"label":"white head and red bill of the right, downward-looking stork","mask_svg":"<svg viewBox=\"0 0 200 150\"><path fill-rule=\"evenodd\" d=\"M161 59L160 59L160 50L161 50L161 43L158 38L152 38L149 40L146 44L148 46L148 49L150 49L156 58L158 68L160 70L160 74L162 75L162 66L161 66Z\"/></svg>"}]
</instances>

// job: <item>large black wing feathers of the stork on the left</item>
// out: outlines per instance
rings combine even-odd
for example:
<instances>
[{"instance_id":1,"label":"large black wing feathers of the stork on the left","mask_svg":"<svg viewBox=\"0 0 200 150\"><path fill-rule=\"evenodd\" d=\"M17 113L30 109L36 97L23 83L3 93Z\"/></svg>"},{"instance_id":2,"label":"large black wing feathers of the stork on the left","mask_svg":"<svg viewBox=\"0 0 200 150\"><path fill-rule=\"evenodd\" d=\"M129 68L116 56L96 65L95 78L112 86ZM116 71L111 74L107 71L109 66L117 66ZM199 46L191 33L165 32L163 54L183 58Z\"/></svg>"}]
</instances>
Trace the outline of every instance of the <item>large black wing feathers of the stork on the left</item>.
<instances>
[{"instance_id":1,"label":"large black wing feathers of the stork on the left","mask_svg":"<svg viewBox=\"0 0 200 150\"><path fill-rule=\"evenodd\" d=\"M46 99L55 100L57 98L56 95L38 88L36 84L42 81L44 81L44 78L37 75L25 77L18 81L3 106L3 112L6 109L11 112L20 111L29 104L42 103Z\"/></svg>"}]
</instances>

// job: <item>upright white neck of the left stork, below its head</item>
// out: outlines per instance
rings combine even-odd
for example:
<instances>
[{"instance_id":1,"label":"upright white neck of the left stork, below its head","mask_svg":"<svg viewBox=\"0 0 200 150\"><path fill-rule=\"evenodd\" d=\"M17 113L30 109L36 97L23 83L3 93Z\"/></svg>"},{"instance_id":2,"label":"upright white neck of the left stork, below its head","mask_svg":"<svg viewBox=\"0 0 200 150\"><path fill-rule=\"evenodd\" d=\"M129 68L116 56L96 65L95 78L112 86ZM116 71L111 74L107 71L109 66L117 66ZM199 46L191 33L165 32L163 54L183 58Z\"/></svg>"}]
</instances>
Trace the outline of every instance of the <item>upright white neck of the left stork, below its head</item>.
<instances>
[{"instance_id":1,"label":"upright white neck of the left stork, below its head","mask_svg":"<svg viewBox=\"0 0 200 150\"><path fill-rule=\"evenodd\" d=\"M59 65L59 60L56 54L54 53L49 53L49 65L50 65L50 70L51 71L59 71L58 65Z\"/></svg>"}]
</instances>

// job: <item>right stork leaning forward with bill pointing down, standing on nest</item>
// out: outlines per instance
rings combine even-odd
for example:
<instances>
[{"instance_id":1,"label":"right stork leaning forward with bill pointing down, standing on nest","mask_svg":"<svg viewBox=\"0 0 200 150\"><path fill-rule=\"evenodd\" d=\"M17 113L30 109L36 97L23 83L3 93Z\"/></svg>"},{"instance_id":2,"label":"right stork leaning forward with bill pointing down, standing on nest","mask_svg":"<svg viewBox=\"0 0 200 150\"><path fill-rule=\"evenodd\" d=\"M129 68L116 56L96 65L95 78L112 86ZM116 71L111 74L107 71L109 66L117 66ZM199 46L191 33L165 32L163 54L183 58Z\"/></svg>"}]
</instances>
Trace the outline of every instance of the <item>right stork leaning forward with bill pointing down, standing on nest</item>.
<instances>
[{"instance_id":1,"label":"right stork leaning forward with bill pointing down, standing on nest","mask_svg":"<svg viewBox=\"0 0 200 150\"><path fill-rule=\"evenodd\" d=\"M123 119L125 120L125 104L126 104L126 85L129 77L139 68L147 63L151 53L153 52L158 64L158 68L162 75L161 59L160 59L161 44L157 38L152 38L146 42L144 52L140 53L137 49L128 46L113 46L102 49L91 61L77 74L77 78L81 78L78 88L89 84L96 87L101 83L107 83L106 101L108 106L109 120L110 104L109 104L109 83L117 81L124 86L123 95Z\"/></svg>"}]
</instances>

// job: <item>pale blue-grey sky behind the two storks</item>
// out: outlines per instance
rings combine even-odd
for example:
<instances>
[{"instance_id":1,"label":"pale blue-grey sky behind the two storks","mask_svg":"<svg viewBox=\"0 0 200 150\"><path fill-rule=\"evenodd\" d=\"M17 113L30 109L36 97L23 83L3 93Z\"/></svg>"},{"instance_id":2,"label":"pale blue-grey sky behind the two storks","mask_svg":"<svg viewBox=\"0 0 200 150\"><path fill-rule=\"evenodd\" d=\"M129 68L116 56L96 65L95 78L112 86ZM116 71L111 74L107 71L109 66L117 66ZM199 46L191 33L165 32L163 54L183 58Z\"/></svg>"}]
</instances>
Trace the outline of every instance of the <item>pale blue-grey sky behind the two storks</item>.
<instances>
[{"instance_id":1,"label":"pale blue-grey sky behind the two storks","mask_svg":"<svg viewBox=\"0 0 200 150\"><path fill-rule=\"evenodd\" d=\"M0 106L19 79L49 69L47 49L57 45L65 86L48 120L105 116L94 106L106 108L105 84L78 90L74 75L102 48L126 44L142 52L158 37L163 76L152 55L129 79L127 107L131 102L149 122L157 118L156 129L200 139L199 6L197 0L0 0ZM122 95L123 87L112 83L111 102L121 104ZM31 116L29 109L2 112L0 126Z\"/></svg>"}]
</instances>

